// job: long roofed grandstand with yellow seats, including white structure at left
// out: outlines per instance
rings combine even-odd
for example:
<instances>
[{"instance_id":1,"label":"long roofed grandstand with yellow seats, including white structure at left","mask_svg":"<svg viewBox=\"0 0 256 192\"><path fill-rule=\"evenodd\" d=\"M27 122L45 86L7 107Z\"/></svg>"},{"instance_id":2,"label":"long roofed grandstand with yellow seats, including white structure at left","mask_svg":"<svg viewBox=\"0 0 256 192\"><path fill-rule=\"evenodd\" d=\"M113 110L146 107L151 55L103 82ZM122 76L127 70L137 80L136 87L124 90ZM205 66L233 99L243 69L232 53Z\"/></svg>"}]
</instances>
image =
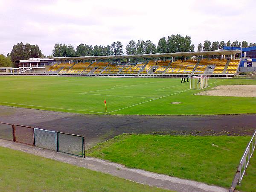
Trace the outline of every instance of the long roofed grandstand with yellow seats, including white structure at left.
<instances>
[{"instance_id":1,"label":"long roofed grandstand with yellow seats, including white structure at left","mask_svg":"<svg viewBox=\"0 0 256 192\"><path fill-rule=\"evenodd\" d=\"M238 73L241 50L32 58L17 62L19 74L80 76L225 76ZM34 73L33 73L34 72Z\"/></svg>"}]
</instances>

